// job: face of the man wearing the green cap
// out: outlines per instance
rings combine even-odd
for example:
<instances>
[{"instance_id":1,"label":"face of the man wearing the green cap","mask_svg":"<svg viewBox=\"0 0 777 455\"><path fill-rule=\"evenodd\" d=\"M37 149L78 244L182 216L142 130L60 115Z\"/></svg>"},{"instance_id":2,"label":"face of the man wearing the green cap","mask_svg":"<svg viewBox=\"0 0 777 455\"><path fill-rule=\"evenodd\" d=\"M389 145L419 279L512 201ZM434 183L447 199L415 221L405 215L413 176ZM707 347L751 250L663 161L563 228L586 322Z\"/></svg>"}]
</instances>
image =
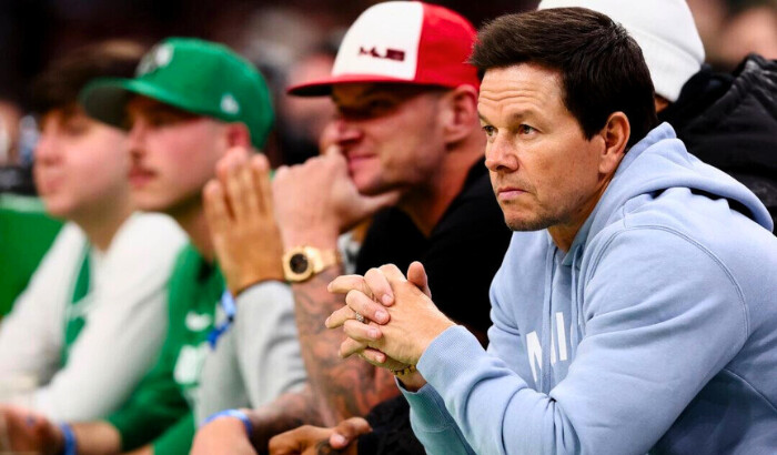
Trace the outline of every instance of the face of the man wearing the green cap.
<instances>
[{"instance_id":1,"label":"face of the man wearing the green cap","mask_svg":"<svg viewBox=\"0 0 777 455\"><path fill-rule=\"evenodd\" d=\"M202 188L228 149L223 124L144 97L127 109L135 205L172 215L199 206Z\"/></svg>"}]
</instances>

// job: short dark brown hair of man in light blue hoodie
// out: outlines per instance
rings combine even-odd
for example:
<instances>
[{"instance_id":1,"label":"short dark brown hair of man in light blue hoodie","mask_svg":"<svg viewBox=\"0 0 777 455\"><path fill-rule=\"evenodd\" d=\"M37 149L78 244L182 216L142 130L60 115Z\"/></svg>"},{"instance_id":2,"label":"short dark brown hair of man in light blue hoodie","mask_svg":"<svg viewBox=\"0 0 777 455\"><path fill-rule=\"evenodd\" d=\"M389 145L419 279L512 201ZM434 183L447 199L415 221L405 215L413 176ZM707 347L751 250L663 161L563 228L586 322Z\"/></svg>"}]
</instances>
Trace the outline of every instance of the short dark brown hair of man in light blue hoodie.
<instances>
[{"instance_id":1,"label":"short dark brown hair of man in light blue hoodie","mask_svg":"<svg viewBox=\"0 0 777 455\"><path fill-rule=\"evenodd\" d=\"M608 17L585 8L507 14L478 33L470 62L481 78L488 69L535 63L557 70L563 101L586 139L613 112L632 127L627 146L658 124L650 72L639 46Z\"/></svg>"}]
</instances>

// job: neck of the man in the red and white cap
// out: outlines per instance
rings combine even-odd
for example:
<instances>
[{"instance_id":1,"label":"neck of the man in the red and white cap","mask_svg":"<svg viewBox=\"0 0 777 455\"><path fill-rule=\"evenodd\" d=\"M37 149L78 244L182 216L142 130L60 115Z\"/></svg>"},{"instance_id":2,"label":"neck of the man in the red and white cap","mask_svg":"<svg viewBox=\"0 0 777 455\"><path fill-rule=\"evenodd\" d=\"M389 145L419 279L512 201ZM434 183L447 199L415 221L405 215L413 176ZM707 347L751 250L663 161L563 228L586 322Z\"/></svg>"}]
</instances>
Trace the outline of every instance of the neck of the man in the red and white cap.
<instances>
[{"instance_id":1,"label":"neck of the man in the red and white cap","mask_svg":"<svg viewBox=\"0 0 777 455\"><path fill-rule=\"evenodd\" d=\"M424 236L430 236L445 211L462 192L472 166L482 160L482 153L470 153L468 149L448 153L440 171L428 184L408 191L397 206L413 220Z\"/></svg>"}]
</instances>

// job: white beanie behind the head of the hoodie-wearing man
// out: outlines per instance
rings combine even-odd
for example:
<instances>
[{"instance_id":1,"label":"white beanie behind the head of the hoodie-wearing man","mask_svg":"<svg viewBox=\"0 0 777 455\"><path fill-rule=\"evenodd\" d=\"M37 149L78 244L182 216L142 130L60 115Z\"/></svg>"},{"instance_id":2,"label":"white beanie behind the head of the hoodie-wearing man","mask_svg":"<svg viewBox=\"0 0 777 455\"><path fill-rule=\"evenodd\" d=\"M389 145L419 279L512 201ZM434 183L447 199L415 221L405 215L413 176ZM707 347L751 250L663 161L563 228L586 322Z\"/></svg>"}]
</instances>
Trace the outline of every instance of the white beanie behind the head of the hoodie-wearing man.
<instances>
[{"instance_id":1,"label":"white beanie behind the head of the hoodie-wearing man","mask_svg":"<svg viewBox=\"0 0 777 455\"><path fill-rule=\"evenodd\" d=\"M582 7L619 22L642 48L656 94L677 101L704 63L704 46L685 0L543 0L538 9Z\"/></svg>"}]
</instances>

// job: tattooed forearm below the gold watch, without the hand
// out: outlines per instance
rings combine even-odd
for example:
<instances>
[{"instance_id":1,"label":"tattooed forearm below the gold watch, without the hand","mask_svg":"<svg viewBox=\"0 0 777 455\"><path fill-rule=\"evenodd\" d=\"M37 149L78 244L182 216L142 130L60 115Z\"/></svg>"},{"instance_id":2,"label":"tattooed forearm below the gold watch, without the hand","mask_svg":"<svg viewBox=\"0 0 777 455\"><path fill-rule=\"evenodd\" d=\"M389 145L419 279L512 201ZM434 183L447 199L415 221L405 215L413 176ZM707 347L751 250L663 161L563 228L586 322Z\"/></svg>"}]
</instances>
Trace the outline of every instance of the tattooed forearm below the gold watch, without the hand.
<instances>
[{"instance_id":1,"label":"tattooed forearm below the gold watch, without the hand","mask_svg":"<svg viewBox=\"0 0 777 455\"><path fill-rule=\"evenodd\" d=\"M343 296L326 290L342 273L342 266L332 266L292 286L302 357L325 426L366 415L374 405L398 393L390 372L359 357L341 358L342 334L324 326L326 317L345 304Z\"/></svg>"}]
</instances>

